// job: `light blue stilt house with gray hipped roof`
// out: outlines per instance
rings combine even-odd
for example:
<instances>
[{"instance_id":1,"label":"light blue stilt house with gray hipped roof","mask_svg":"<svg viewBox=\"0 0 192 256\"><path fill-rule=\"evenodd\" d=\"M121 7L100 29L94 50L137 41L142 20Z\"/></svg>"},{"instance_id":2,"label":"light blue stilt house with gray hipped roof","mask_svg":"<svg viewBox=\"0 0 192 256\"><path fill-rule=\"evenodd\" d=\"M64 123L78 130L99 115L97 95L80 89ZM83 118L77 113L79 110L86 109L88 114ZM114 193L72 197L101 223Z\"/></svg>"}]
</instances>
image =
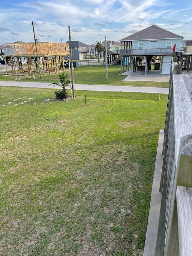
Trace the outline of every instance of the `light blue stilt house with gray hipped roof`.
<instances>
[{"instance_id":1,"label":"light blue stilt house with gray hipped roof","mask_svg":"<svg viewBox=\"0 0 192 256\"><path fill-rule=\"evenodd\" d=\"M132 73L144 63L145 57L146 64L139 69L145 70L145 74L151 69L152 61L155 63L156 57L161 56L161 63L157 65L157 69L160 69L160 74L170 74L169 63L171 63L173 45L176 44L176 51L186 52L187 48L182 47L182 39L182 36L152 25L121 39L120 56L121 59L130 57Z\"/></svg>"}]
</instances>

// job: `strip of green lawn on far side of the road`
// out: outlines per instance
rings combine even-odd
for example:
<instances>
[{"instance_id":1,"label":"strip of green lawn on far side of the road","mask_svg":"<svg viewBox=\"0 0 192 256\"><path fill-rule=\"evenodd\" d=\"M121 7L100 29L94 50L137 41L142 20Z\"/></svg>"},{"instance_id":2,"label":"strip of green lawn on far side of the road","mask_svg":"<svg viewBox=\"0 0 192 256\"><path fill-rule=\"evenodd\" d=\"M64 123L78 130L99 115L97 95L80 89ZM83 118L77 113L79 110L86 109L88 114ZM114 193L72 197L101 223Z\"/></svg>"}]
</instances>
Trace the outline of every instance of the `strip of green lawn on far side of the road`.
<instances>
[{"instance_id":1,"label":"strip of green lawn on far side of the road","mask_svg":"<svg viewBox=\"0 0 192 256\"><path fill-rule=\"evenodd\" d=\"M67 71L68 72L68 71ZM11 71L9 72L11 73ZM106 69L105 66L80 66L74 69L74 80L75 83L79 84L96 84L96 85L117 85L117 86L146 86L146 87L167 87L169 88L168 82L139 82L139 81L123 81L125 75L120 75L120 65L108 66L108 81L106 81ZM36 74L38 76L38 74ZM33 79L32 75L28 75L31 79L26 77L8 77L0 74L1 81L27 81L27 82L42 82L42 83L53 83L58 81L58 74L45 74L42 78Z\"/></svg>"}]
</instances>

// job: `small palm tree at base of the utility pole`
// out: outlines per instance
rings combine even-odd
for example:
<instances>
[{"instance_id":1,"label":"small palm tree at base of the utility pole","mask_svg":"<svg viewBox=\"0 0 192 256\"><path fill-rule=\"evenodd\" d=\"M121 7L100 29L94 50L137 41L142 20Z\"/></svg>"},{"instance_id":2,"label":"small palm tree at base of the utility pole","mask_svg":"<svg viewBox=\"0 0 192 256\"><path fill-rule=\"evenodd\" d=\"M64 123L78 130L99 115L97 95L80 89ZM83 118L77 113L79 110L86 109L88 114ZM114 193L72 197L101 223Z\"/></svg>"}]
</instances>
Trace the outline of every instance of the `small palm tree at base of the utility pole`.
<instances>
[{"instance_id":1,"label":"small palm tree at base of the utility pole","mask_svg":"<svg viewBox=\"0 0 192 256\"><path fill-rule=\"evenodd\" d=\"M67 99L68 98L68 93L67 93L66 87L69 86L71 88L70 83L72 81L70 79L68 79L68 74L65 74L64 72L61 75L59 75L58 78L60 80L60 83L50 83L49 85L54 84L54 86L56 86L56 85L60 86L62 88L62 91L60 91L60 90L59 91L55 91L54 92L55 97L59 98L59 99ZM58 92L60 92L60 94Z\"/></svg>"}]
</instances>

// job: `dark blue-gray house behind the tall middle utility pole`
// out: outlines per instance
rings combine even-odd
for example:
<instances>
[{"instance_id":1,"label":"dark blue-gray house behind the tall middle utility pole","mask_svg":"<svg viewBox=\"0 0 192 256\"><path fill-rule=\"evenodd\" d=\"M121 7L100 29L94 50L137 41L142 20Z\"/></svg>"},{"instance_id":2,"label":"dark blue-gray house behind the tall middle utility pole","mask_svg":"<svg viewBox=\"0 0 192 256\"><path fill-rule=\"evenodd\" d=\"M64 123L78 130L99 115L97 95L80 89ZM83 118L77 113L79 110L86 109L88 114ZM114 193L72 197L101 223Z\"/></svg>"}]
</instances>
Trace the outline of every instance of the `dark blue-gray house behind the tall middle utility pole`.
<instances>
[{"instance_id":1,"label":"dark blue-gray house behind the tall middle utility pole","mask_svg":"<svg viewBox=\"0 0 192 256\"><path fill-rule=\"evenodd\" d=\"M70 42L67 41L70 46ZM72 54L74 60L83 59L85 55L87 57L87 53L90 51L90 47L87 44L84 44L79 41L71 41Z\"/></svg>"}]
</instances>

